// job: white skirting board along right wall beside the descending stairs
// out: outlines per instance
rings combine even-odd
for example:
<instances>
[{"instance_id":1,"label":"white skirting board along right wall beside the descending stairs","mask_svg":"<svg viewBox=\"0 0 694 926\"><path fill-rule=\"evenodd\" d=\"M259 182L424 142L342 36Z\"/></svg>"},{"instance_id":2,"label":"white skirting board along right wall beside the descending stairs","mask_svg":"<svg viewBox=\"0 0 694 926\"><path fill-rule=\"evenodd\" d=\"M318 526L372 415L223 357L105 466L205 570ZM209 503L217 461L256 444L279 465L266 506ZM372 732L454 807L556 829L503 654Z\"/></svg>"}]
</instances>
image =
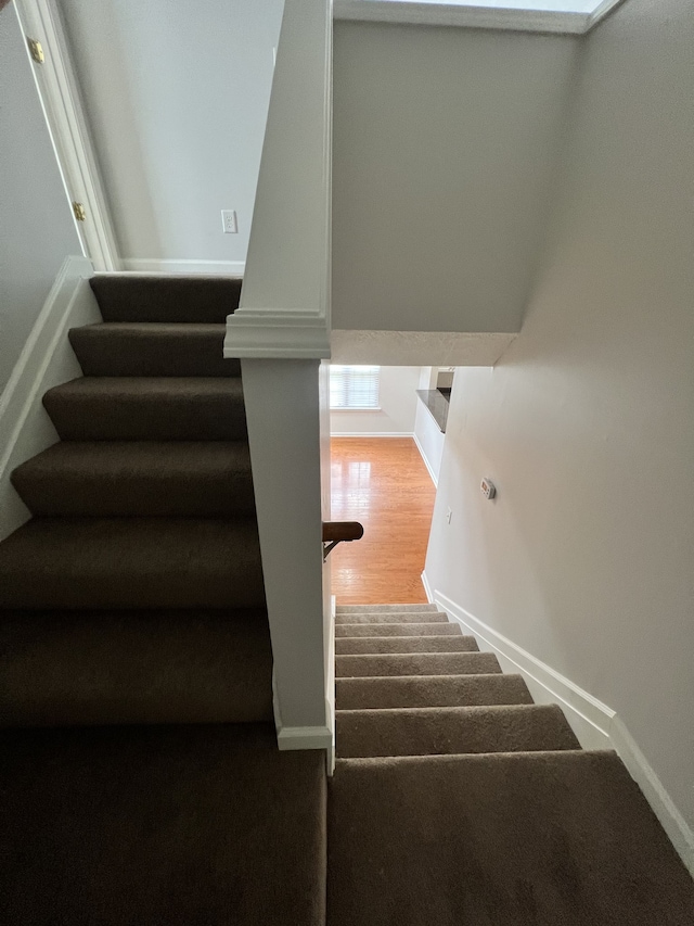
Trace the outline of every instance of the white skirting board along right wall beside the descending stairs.
<instances>
[{"instance_id":1,"label":"white skirting board along right wall beside the descending stairs","mask_svg":"<svg viewBox=\"0 0 694 926\"><path fill-rule=\"evenodd\" d=\"M614 749L617 752L682 862L694 875L694 833L616 712L442 593L432 593L425 572L422 573L422 582L429 600L464 631L473 634L480 649L494 652L504 672L523 675L537 703L558 703L563 708L584 749Z\"/></svg>"}]
</instances>

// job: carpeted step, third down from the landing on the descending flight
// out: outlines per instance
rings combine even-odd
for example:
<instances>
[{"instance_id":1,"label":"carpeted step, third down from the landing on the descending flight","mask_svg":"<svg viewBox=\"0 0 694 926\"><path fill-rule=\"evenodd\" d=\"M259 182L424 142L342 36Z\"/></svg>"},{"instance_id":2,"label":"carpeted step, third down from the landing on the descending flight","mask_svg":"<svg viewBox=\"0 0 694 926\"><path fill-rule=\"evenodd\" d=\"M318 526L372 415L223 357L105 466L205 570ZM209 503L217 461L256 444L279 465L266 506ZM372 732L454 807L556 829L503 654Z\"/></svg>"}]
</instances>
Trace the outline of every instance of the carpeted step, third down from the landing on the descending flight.
<instances>
[{"instance_id":1,"label":"carpeted step, third down from the landing on the descending flight","mask_svg":"<svg viewBox=\"0 0 694 926\"><path fill-rule=\"evenodd\" d=\"M337 678L374 675L471 675L501 672L491 652L390 652L336 656Z\"/></svg>"}]
</instances>

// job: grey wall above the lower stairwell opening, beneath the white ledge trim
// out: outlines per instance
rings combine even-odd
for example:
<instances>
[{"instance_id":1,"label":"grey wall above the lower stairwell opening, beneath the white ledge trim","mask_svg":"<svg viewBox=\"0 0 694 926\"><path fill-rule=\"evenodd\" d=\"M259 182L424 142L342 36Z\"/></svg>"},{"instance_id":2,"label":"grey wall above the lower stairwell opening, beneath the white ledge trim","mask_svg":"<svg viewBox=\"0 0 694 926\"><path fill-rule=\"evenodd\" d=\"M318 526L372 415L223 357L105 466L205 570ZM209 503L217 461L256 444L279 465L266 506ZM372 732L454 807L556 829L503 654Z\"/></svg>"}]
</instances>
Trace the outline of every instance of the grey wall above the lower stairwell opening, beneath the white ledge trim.
<instances>
[{"instance_id":1,"label":"grey wall above the lower stairwell opening, beneath the white ledge trim","mask_svg":"<svg viewBox=\"0 0 694 926\"><path fill-rule=\"evenodd\" d=\"M335 23L333 328L519 329L578 48Z\"/></svg>"}]
</instances>

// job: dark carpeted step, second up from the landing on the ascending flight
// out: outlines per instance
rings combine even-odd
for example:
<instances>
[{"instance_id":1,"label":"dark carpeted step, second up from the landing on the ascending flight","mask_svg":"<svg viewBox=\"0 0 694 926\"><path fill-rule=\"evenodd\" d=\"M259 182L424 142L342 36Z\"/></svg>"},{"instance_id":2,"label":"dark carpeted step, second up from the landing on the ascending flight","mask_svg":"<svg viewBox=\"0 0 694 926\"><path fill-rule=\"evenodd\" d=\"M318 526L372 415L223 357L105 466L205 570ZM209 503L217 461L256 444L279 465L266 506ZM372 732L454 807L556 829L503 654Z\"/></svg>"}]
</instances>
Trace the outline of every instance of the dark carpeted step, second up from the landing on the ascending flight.
<instances>
[{"instance_id":1,"label":"dark carpeted step, second up from the landing on the ascending flight","mask_svg":"<svg viewBox=\"0 0 694 926\"><path fill-rule=\"evenodd\" d=\"M255 519L34 518L0 544L0 608L264 605Z\"/></svg>"}]
</instances>

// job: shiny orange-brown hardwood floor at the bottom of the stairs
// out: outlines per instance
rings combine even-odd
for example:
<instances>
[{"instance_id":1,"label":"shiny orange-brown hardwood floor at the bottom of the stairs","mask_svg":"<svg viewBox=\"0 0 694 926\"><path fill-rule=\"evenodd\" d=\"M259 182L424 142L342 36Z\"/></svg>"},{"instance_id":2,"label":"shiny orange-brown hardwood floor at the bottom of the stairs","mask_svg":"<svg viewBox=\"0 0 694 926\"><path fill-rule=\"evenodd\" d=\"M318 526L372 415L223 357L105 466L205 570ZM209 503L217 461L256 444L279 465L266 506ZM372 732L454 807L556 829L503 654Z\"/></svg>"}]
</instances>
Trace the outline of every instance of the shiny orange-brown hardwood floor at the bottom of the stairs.
<instances>
[{"instance_id":1,"label":"shiny orange-brown hardwood floor at the bottom of the stairs","mask_svg":"<svg viewBox=\"0 0 694 926\"><path fill-rule=\"evenodd\" d=\"M339 605L424 604L436 490L411 437L333 437L332 519L364 536L331 553Z\"/></svg>"}]
</instances>

